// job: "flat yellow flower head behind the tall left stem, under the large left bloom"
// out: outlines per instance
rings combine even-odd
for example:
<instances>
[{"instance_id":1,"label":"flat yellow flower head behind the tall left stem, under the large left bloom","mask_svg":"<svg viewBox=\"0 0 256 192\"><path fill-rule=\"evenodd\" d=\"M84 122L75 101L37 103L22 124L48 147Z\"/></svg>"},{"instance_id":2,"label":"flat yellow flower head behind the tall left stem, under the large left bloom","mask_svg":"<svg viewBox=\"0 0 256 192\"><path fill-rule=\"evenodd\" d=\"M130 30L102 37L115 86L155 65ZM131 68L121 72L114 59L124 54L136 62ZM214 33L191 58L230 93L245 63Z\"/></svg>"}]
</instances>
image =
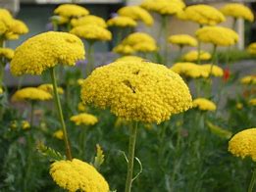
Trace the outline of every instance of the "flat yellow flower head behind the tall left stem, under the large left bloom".
<instances>
[{"instance_id":1,"label":"flat yellow flower head behind the tall left stem, under the large left bloom","mask_svg":"<svg viewBox=\"0 0 256 192\"><path fill-rule=\"evenodd\" d=\"M34 87L26 87L15 92L12 96L12 101L46 101L52 99L52 95L41 89Z\"/></svg>"}]
</instances>

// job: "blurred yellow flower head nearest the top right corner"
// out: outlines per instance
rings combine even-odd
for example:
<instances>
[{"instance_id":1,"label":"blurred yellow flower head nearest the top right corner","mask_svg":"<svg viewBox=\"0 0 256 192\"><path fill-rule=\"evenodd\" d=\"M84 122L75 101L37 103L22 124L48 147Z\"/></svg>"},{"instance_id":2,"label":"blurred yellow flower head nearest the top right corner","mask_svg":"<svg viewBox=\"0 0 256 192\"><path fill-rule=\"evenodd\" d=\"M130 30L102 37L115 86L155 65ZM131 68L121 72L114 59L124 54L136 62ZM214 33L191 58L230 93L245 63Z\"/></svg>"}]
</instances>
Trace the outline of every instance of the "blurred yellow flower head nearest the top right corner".
<instances>
[{"instance_id":1,"label":"blurred yellow flower head nearest the top right corner","mask_svg":"<svg viewBox=\"0 0 256 192\"><path fill-rule=\"evenodd\" d=\"M235 19L242 18L244 20L253 22L254 15L252 11L240 4L240 3L229 3L226 4L223 8L221 8L221 12L226 16L231 16Z\"/></svg>"}]
</instances>

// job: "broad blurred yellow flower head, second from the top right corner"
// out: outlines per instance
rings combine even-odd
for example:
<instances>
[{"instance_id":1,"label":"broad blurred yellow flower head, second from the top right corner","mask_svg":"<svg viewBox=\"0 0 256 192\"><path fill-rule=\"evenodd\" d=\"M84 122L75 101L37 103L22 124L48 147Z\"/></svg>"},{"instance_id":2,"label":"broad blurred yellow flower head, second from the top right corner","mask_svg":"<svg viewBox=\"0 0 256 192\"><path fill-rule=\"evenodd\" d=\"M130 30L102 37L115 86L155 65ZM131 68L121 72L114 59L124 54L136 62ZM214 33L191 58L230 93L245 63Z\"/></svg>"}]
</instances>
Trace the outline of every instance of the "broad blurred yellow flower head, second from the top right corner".
<instances>
[{"instance_id":1,"label":"broad blurred yellow flower head, second from the top right corner","mask_svg":"<svg viewBox=\"0 0 256 192\"><path fill-rule=\"evenodd\" d=\"M179 12L178 18L195 22L197 24L216 25L225 22L225 16L216 8L209 5L191 5L183 12Z\"/></svg>"}]
</instances>

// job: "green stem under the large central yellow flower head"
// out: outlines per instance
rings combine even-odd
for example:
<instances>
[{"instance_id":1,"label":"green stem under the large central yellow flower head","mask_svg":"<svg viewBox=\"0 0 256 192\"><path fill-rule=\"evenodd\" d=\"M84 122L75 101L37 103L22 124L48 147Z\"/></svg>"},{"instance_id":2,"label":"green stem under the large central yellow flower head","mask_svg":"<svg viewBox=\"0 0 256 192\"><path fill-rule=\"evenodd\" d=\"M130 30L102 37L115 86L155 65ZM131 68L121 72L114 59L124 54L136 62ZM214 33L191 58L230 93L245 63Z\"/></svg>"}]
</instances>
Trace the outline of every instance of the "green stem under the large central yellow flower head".
<instances>
[{"instance_id":1,"label":"green stem under the large central yellow flower head","mask_svg":"<svg viewBox=\"0 0 256 192\"><path fill-rule=\"evenodd\" d=\"M138 125L138 123L135 122L135 124L131 125L131 127L129 128L128 173L127 173L126 192L130 192L131 183L132 183L132 172L133 172L133 161L134 161L137 125Z\"/></svg>"}]
</instances>

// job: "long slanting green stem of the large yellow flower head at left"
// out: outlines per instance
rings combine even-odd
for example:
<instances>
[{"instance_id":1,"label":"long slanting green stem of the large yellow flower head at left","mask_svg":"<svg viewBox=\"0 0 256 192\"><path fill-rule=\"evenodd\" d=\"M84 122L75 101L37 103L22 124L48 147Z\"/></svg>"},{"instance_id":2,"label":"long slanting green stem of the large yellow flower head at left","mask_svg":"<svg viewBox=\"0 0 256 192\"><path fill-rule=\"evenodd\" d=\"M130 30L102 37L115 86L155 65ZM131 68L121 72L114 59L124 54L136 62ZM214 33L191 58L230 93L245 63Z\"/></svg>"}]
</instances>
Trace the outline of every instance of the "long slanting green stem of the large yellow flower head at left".
<instances>
[{"instance_id":1,"label":"long slanting green stem of the large yellow flower head at left","mask_svg":"<svg viewBox=\"0 0 256 192\"><path fill-rule=\"evenodd\" d=\"M61 101L60 101L60 97L59 97L59 93L57 91L57 82L56 82L56 76L55 76L55 71L54 68L50 69L51 72L51 78L52 78L52 84L53 84L53 92L54 92L54 99L55 99L55 104L58 110L58 115L59 115L59 119L61 121L62 124L62 130L63 130L63 136L64 136L64 142L65 142L65 147L66 147L66 156L68 158L68 160L72 160L72 153L71 153L71 146L69 143L69 138L68 138L68 133L67 133L67 129L66 129L66 124L63 118L63 113L62 113L62 107L61 107Z\"/></svg>"}]
</instances>

